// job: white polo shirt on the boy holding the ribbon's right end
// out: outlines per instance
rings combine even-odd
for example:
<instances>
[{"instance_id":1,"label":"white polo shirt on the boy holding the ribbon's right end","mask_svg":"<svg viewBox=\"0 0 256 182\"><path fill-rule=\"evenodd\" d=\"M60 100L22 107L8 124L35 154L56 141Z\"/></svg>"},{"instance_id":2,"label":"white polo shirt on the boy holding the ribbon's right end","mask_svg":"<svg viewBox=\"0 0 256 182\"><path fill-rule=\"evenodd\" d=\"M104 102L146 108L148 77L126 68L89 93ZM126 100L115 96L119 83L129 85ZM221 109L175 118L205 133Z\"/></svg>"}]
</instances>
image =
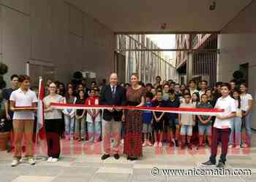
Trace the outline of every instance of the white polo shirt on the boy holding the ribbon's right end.
<instances>
[{"instance_id":1,"label":"white polo shirt on the boy holding the ribbon's right end","mask_svg":"<svg viewBox=\"0 0 256 182\"><path fill-rule=\"evenodd\" d=\"M233 98L228 95L226 98L218 98L215 108L224 109L223 114L219 114L219 116L228 116L233 112L236 112L236 102ZM233 119L215 119L214 127L219 129L231 128L231 122Z\"/></svg>"}]
</instances>

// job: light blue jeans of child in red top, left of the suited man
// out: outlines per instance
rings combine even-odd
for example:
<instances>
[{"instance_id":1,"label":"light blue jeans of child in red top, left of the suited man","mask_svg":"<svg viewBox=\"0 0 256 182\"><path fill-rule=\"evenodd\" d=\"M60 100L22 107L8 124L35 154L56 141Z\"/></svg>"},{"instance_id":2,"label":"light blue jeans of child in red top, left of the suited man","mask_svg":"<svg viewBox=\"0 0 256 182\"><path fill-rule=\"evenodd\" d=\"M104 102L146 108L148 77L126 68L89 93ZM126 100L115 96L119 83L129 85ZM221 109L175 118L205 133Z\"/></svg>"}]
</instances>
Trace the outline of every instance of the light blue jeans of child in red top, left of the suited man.
<instances>
[{"instance_id":1,"label":"light blue jeans of child in red top, left of the suited man","mask_svg":"<svg viewBox=\"0 0 256 182\"><path fill-rule=\"evenodd\" d=\"M89 141L99 141L101 134L100 122L87 122Z\"/></svg>"}]
</instances>

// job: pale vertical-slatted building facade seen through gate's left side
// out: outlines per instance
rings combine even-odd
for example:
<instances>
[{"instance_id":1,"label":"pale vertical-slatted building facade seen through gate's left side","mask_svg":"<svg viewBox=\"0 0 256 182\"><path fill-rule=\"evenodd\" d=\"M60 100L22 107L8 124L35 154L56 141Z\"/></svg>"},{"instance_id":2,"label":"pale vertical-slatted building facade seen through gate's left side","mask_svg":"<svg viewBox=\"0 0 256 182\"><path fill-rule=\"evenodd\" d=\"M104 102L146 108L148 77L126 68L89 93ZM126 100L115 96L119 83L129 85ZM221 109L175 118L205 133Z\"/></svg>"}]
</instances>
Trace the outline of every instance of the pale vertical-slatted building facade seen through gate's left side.
<instances>
[{"instance_id":1,"label":"pale vertical-slatted building facade seen through gate's left side","mask_svg":"<svg viewBox=\"0 0 256 182\"><path fill-rule=\"evenodd\" d=\"M117 35L116 39L118 54L125 59L125 82L129 82L132 73L138 73L144 83L154 82L156 76L161 76L162 80L177 79L176 68L172 65L175 60L157 51L160 48L146 35Z\"/></svg>"}]
</instances>

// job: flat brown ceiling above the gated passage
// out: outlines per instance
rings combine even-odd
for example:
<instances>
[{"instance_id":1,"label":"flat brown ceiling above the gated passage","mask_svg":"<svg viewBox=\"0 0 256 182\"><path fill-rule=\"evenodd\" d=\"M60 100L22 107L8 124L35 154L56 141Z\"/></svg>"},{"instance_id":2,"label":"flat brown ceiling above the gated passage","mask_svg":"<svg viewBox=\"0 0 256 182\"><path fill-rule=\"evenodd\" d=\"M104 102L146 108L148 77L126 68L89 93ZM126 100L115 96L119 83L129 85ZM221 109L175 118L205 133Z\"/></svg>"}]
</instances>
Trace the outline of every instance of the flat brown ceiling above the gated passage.
<instances>
[{"instance_id":1,"label":"flat brown ceiling above the gated passage","mask_svg":"<svg viewBox=\"0 0 256 182\"><path fill-rule=\"evenodd\" d=\"M252 0L69 0L115 32L221 31ZM165 30L162 23L167 23Z\"/></svg>"}]
</instances>

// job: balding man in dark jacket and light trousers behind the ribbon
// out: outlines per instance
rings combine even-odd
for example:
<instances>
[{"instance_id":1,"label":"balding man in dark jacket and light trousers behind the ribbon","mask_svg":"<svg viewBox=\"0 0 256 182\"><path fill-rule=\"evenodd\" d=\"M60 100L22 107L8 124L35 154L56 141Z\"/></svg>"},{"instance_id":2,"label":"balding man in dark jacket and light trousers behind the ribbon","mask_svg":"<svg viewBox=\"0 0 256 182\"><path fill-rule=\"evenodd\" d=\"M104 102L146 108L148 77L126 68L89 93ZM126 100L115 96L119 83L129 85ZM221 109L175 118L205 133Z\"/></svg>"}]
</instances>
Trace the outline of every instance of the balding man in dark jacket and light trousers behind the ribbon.
<instances>
[{"instance_id":1,"label":"balding man in dark jacket and light trousers behind the ribbon","mask_svg":"<svg viewBox=\"0 0 256 182\"><path fill-rule=\"evenodd\" d=\"M102 88L99 104L108 106L125 106L126 93L123 87L117 84L117 74L110 75L110 84ZM110 157L110 138L111 133L114 138L113 154L115 159L119 159L119 144L121 140L121 120L124 118L123 111L119 109L109 108L103 112L103 119L105 120L103 147L105 154L102 160Z\"/></svg>"}]
</instances>

